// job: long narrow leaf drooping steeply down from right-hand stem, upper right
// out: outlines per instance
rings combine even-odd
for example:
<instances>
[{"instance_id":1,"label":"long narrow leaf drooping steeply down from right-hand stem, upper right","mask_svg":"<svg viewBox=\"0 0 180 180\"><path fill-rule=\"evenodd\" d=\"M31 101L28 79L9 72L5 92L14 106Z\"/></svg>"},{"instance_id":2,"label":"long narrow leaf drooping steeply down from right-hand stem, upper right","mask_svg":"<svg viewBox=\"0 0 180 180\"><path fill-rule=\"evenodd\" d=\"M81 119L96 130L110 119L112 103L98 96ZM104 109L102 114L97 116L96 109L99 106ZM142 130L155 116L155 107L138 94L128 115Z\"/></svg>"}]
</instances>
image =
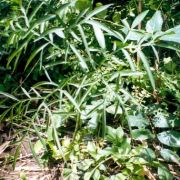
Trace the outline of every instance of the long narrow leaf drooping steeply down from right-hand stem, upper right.
<instances>
[{"instance_id":1,"label":"long narrow leaf drooping steeply down from right-hand stem, upper right","mask_svg":"<svg viewBox=\"0 0 180 180\"><path fill-rule=\"evenodd\" d=\"M146 59L146 56L144 55L144 53L141 51L141 50L138 50L138 55L139 57L141 58L143 64L144 64L144 68L149 76L149 80L151 82L151 85L153 87L153 89L155 90L155 81L154 81L154 78L153 78L153 75L152 75L152 72L151 72L151 69L150 69L150 66L149 66L149 63Z\"/></svg>"}]
</instances>

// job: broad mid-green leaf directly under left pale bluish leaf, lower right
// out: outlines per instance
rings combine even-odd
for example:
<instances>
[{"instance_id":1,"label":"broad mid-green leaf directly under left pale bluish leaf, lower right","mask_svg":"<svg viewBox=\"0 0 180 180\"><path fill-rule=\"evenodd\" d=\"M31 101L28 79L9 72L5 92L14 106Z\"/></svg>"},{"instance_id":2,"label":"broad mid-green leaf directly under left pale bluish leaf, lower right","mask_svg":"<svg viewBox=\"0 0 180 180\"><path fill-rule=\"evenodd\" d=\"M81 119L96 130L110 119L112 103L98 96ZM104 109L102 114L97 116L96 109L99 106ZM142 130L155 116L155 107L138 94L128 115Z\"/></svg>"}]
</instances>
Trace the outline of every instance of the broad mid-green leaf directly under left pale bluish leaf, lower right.
<instances>
[{"instance_id":1,"label":"broad mid-green leaf directly under left pale bluish leaf, lower right","mask_svg":"<svg viewBox=\"0 0 180 180\"><path fill-rule=\"evenodd\" d=\"M146 139L154 138L154 135L149 129L134 129L132 130L132 137L135 140L144 141Z\"/></svg>"}]
</instances>

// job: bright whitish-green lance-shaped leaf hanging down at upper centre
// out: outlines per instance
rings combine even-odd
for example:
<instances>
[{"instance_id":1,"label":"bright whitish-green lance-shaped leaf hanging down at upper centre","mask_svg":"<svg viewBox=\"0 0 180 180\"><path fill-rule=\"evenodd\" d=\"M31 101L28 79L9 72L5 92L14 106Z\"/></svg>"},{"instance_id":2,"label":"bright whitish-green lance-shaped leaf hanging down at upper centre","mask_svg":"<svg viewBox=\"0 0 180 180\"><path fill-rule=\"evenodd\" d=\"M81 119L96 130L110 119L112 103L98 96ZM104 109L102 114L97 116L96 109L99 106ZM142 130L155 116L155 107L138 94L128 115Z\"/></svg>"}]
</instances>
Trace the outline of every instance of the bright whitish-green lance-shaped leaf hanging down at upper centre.
<instances>
[{"instance_id":1,"label":"bright whitish-green lance-shaped leaf hanging down at upper centre","mask_svg":"<svg viewBox=\"0 0 180 180\"><path fill-rule=\"evenodd\" d=\"M101 30L101 28L99 28L98 26L94 26L94 25L93 25L93 29L94 29L94 33L95 33L96 39L97 39L100 47L105 49L106 43L105 43L103 31Z\"/></svg>"}]
</instances>

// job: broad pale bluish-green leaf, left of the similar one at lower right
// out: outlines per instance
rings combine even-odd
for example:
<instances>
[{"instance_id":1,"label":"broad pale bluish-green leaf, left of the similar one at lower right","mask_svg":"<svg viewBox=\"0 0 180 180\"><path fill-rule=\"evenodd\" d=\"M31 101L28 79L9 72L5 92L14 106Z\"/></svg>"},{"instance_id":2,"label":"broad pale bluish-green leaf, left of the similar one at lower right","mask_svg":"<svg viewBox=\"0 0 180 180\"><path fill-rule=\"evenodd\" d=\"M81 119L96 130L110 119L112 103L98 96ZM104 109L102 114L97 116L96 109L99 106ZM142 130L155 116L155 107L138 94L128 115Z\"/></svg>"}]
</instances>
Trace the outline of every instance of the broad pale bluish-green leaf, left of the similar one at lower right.
<instances>
[{"instance_id":1,"label":"broad pale bluish-green leaf, left of the similar one at lower right","mask_svg":"<svg viewBox=\"0 0 180 180\"><path fill-rule=\"evenodd\" d=\"M138 115L129 115L129 124L131 127L146 127L149 125L147 119L145 119L142 114Z\"/></svg>"}]
</instances>

